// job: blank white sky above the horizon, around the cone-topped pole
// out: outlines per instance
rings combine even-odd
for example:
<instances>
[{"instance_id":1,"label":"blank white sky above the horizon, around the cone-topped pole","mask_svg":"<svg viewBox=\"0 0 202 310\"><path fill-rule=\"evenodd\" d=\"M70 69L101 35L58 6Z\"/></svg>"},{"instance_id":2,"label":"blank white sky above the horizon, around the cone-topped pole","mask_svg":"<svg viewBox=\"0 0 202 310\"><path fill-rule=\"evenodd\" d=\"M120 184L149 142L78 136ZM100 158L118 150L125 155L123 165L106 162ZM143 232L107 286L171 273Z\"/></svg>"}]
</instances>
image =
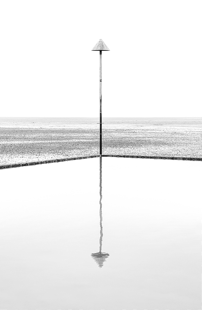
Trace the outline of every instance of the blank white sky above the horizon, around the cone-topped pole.
<instances>
[{"instance_id":1,"label":"blank white sky above the horizon, around the cone-topped pole","mask_svg":"<svg viewBox=\"0 0 202 310\"><path fill-rule=\"evenodd\" d=\"M201 0L0 1L0 116L202 117Z\"/></svg>"}]
</instances>

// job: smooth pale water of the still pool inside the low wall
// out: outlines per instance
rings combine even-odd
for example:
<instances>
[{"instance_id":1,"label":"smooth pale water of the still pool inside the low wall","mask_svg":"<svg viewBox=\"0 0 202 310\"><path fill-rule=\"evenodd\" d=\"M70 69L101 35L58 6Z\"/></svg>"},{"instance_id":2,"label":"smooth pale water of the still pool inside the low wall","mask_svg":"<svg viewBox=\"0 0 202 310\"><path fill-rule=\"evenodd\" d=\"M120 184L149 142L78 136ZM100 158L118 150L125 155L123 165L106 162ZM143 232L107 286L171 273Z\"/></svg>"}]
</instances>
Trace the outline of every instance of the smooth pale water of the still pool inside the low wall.
<instances>
[{"instance_id":1,"label":"smooth pale water of the still pool inside the low wall","mask_svg":"<svg viewBox=\"0 0 202 310\"><path fill-rule=\"evenodd\" d=\"M201 308L202 162L0 171L0 309Z\"/></svg>"}]
</instances>

